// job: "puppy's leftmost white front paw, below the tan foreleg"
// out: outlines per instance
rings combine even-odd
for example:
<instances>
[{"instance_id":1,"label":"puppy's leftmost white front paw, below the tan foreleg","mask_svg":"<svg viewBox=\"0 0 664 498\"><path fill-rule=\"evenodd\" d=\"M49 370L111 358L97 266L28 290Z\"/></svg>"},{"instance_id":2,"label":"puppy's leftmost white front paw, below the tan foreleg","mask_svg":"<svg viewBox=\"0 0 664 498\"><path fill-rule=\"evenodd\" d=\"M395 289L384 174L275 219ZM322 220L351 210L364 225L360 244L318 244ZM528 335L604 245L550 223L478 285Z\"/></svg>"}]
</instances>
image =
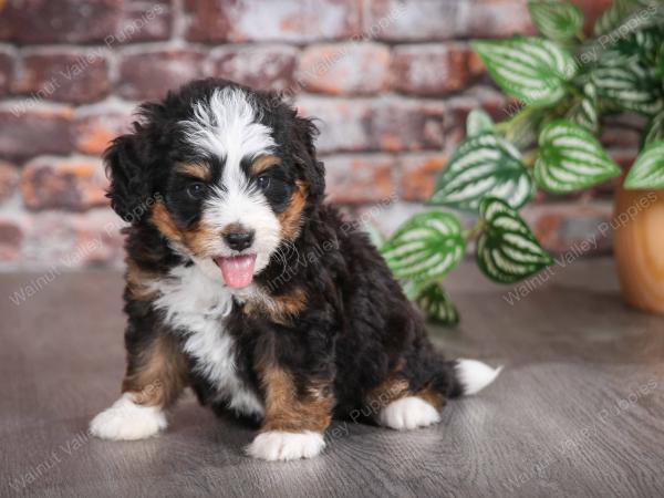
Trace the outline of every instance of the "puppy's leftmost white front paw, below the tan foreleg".
<instances>
[{"instance_id":1,"label":"puppy's leftmost white front paw, below the tan foreleg","mask_svg":"<svg viewBox=\"0 0 664 498\"><path fill-rule=\"evenodd\" d=\"M156 406L141 406L125 393L90 423L90 432L102 439L134 440L154 436L166 428L166 416Z\"/></svg>"}]
</instances>

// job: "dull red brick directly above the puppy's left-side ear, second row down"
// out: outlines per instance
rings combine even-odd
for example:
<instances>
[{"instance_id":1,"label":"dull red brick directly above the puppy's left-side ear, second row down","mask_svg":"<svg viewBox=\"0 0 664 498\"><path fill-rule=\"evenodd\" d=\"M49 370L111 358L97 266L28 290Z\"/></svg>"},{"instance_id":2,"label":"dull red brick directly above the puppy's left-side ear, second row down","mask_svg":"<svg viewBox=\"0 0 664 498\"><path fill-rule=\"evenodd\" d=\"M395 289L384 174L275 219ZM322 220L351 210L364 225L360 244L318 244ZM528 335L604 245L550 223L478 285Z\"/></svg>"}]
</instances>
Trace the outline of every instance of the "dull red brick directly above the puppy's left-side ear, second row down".
<instances>
[{"instance_id":1,"label":"dull red brick directly above the puppy's left-side ear, second row down","mask_svg":"<svg viewBox=\"0 0 664 498\"><path fill-rule=\"evenodd\" d=\"M163 98L169 90L203 76L203 52L164 50L125 54L117 92L127 98Z\"/></svg>"}]
</instances>

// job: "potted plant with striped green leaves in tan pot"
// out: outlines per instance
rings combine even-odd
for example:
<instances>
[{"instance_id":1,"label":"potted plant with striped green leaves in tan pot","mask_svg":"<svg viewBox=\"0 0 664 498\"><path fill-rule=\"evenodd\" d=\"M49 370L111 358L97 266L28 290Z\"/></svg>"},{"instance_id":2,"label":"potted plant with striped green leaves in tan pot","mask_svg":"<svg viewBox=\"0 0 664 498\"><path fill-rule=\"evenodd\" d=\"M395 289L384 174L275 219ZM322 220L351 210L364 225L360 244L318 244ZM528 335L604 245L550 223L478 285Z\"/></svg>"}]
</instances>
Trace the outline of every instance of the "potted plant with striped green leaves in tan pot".
<instances>
[{"instance_id":1,"label":"potted plant with striped green leaves in tan pot","mask_svg":"<svg viewBox=\"0 0 664 498\"><path fill-rule=\"evenodd\" d=\"M646 201L627 221L614 224L616 261L627 301L664 311L664 200L653 193L664 188L664 6L614 0L590 39L584 15L572 3L537 0L529 10L540 37L471 42L490 76L522 105L498 124L481 111L470 113L467 136L428 203L469 211L477 222L464 229L452 212L423 212L381 251L430 319L456 323L442 279L467 246L475 242L479 268L500 283L519 282L552 264L519 210L538 188L568 194L621 176L596 136L608 116L629 113L641 116L642 145L616 195L616 218L624 218L634 200ZM656 215L644 215L650 209ZM658 259L650 261L644 250ZM653 264L661 264L658 273ZM641 295L642 281L652 299Z\"/></svg>"}]
</instances>

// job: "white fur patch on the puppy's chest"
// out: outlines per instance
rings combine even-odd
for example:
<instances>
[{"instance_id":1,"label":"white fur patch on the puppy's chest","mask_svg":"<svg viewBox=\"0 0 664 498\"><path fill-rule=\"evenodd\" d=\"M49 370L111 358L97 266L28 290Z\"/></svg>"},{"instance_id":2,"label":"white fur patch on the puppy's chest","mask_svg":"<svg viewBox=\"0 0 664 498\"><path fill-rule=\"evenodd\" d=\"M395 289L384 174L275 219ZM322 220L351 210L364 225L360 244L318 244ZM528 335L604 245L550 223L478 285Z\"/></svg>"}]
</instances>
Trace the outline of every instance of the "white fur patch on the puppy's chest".
<instances>
[{"instance_id":1,"label":"white fur patch on the puppy's chest","mask_svg":"<svg viewBox=\"0 0 664 498\"><path fill-rule=\"evenodd\" d=\"M224 329L224 318L232 309L232 294L220 282L203 274L195 266L177 267L170 278L154 283L159 292L155 307L166 322L186 340L185 351L196 360L198 373L218 392L218 398L245 415L263 414L263 405L237 375L235 341Z\"/></svg>"}]
</instances>

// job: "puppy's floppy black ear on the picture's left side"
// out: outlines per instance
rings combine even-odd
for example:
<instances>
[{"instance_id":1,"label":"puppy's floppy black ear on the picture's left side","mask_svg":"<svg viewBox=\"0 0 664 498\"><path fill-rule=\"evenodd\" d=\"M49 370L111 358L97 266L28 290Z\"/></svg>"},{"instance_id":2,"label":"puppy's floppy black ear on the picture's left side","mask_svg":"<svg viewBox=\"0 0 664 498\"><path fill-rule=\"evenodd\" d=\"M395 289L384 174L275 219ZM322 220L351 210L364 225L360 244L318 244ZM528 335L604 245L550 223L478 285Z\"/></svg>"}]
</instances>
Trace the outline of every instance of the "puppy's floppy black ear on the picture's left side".
<instances>
[{"instance_id":1,"label":"puppy's floppy black ear on the picture's left side","mask_svg":"<svg viewBox=\"0 0 664 498\"><path fill-rule=\"evenodd\" d=\"M152 205L151 154L148 141L141 135L137 126L135 133L115 138L104 153L106 176L111 179L106 197L113 210L132 224L139 221Z\"/></svg>"}]
</instances>

